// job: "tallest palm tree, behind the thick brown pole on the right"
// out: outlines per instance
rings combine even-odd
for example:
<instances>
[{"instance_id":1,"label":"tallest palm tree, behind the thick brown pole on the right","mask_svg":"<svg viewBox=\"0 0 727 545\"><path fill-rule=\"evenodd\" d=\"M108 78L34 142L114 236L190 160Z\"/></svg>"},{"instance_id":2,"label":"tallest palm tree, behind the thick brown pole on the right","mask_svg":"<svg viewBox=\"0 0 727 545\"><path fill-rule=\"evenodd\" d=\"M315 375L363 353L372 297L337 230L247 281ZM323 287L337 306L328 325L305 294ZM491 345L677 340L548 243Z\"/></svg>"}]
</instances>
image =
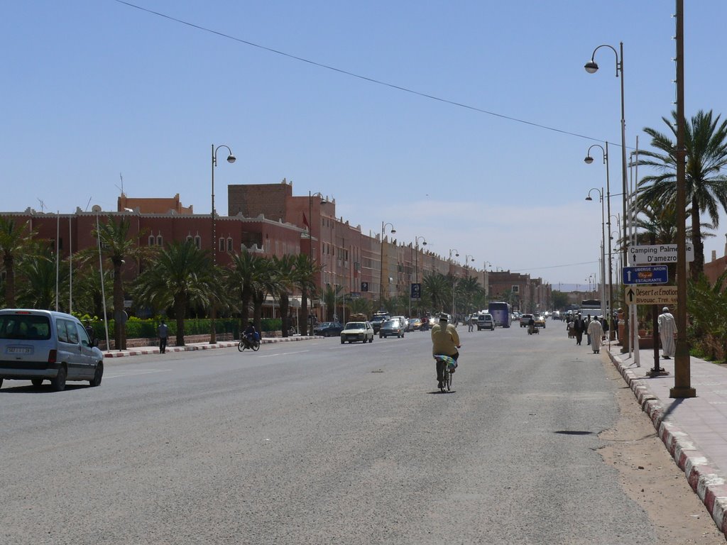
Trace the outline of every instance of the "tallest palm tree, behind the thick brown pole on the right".
<instances>
[{"instance_id":1,"label":"tallest palm tree, behind the thick brown pole on the right","mask_svg":"<svg viewBox=\"0 0 727 545\"><path fill-rule=\"evenodd\" d=\"M638 182L640 198L669 201L675 198L676 189L676 134L677 113L672 111L673 121L662 118L671 135L646 127L651 145L658 151L642 151L639 164L650 166L659 174L643 177ZM685 211L691 217L694 243L694 262L690 265L691 278L704 272L704 243L700 214L706 213L715 227L719 224L720 210L727 211L727 177L721 174L727 166L727 120L720 123L720 116L713 118L712 111L702 110L685 120L686 142L686 198ZM672 140L672 136L674 140ZM679 211L680 214L682 213Z\"/></svg>"}]
</instances>

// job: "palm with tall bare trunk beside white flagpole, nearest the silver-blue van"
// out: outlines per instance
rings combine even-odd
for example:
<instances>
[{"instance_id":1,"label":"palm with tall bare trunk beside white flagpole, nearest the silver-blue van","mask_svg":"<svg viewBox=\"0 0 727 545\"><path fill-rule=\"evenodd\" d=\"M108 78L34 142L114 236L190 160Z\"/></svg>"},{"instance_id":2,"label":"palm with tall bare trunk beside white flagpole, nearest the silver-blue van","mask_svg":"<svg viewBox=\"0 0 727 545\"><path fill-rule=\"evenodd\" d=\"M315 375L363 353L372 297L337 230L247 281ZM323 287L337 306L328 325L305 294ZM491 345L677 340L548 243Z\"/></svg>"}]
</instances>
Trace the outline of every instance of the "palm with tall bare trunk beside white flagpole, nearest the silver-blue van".
<instances>
[{"instance_id":1,"label":"palm with tall bare trunk beside white flagpole, nearest the silver-blue van","mask_svg":"<svg viewBox=\"0 0 727 545\"><path fill-rule=\"evenodd\" d=\"M113 337L116 350L126 349L126 327L123 320L119 319L119 313L124 310L123 265L126 259L137 259L141 254L138 240L140 235L132 238L130 230L129 218L116 219L110 215L92 233L101 239L101 253L111 261L113 267L113 312L116 317L113 320Z\"/></svg>"}]
</instances>

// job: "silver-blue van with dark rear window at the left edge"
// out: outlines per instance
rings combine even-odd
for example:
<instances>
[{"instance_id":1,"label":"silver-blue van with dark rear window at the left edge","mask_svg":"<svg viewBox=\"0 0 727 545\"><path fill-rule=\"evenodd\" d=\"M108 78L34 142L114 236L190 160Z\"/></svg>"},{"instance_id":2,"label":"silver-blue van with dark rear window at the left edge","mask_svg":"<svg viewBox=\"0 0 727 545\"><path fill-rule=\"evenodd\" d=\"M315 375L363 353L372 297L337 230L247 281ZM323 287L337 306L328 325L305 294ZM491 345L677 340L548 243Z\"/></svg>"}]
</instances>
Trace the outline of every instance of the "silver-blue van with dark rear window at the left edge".
<instances>
[{"instance_id":1,"label":"silver-blue van with dark rear window at the left edge","mask_svg":"<svg viewBox=\"0 0 727 545\"><path fill-rule=\"evenodd\" d=\"M101 384L103 353L80 320L65 312L0 310L0 387L4 379L50 380L55 391L67 380Z\"/></svg>"}]
</instances>

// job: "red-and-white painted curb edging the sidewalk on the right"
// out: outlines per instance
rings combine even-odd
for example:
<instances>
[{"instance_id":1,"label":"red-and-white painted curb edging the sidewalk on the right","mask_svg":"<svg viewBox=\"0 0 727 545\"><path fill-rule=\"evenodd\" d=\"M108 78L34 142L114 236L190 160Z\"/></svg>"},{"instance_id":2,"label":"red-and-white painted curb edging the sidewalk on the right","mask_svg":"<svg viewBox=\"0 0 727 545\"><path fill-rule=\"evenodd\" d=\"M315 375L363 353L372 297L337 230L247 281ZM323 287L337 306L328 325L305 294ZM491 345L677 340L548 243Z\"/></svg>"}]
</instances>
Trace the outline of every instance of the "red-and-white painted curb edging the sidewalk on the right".
<instances>
[{"instance_id":1,"label":"red-and-white painted curb edging the sidewalk on the right","mask_svg":"<svg viewBox=\"0 0 727 545\"><path fill-rule=\"evenodd\" d=\"M608 352L611 362L634 393L642 410L651 419L659 438L679 469L684 472L689 486L702 500L717 528L727 538L727 484L723 475L697 450L688 433L674 424L664 421L664 407L658 397L643 384L640 377L624 366L622 360Z\"/></svg>"}]
</instances>

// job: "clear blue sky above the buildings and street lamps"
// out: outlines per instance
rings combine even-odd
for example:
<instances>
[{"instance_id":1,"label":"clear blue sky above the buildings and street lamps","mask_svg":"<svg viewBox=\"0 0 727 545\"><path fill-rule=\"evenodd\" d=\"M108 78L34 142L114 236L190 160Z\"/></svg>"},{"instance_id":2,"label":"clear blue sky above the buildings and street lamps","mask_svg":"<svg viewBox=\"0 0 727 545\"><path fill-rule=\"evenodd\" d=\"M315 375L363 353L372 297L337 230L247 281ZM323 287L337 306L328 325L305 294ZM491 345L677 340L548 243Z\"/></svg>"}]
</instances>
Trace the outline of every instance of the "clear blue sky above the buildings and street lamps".
<instances>
[{"instance_id":1,"label":"clear blue sky above the buildings and street lamps","mask_svg":"<svg viewBox=\"0 0 727 545\"><path fill-rule=\"evenodd\" d=\"M673 1L131 3L166 17L116 0L4 7L0 210L115 210L122 176L129 196L180 193L209 214L210 147L225 144L220 213L228 184L286 178L364 233L390 222L477 268L584 286L601 244L585 196L606 184L588 147L609 142L612 194L622 177L616 56L583 65L624 43L629 148L674 108ZM727 115L727 2L686 4L686 115ZM727 219L707 260L724 233Z\"/></svg>"}]
</instances>

